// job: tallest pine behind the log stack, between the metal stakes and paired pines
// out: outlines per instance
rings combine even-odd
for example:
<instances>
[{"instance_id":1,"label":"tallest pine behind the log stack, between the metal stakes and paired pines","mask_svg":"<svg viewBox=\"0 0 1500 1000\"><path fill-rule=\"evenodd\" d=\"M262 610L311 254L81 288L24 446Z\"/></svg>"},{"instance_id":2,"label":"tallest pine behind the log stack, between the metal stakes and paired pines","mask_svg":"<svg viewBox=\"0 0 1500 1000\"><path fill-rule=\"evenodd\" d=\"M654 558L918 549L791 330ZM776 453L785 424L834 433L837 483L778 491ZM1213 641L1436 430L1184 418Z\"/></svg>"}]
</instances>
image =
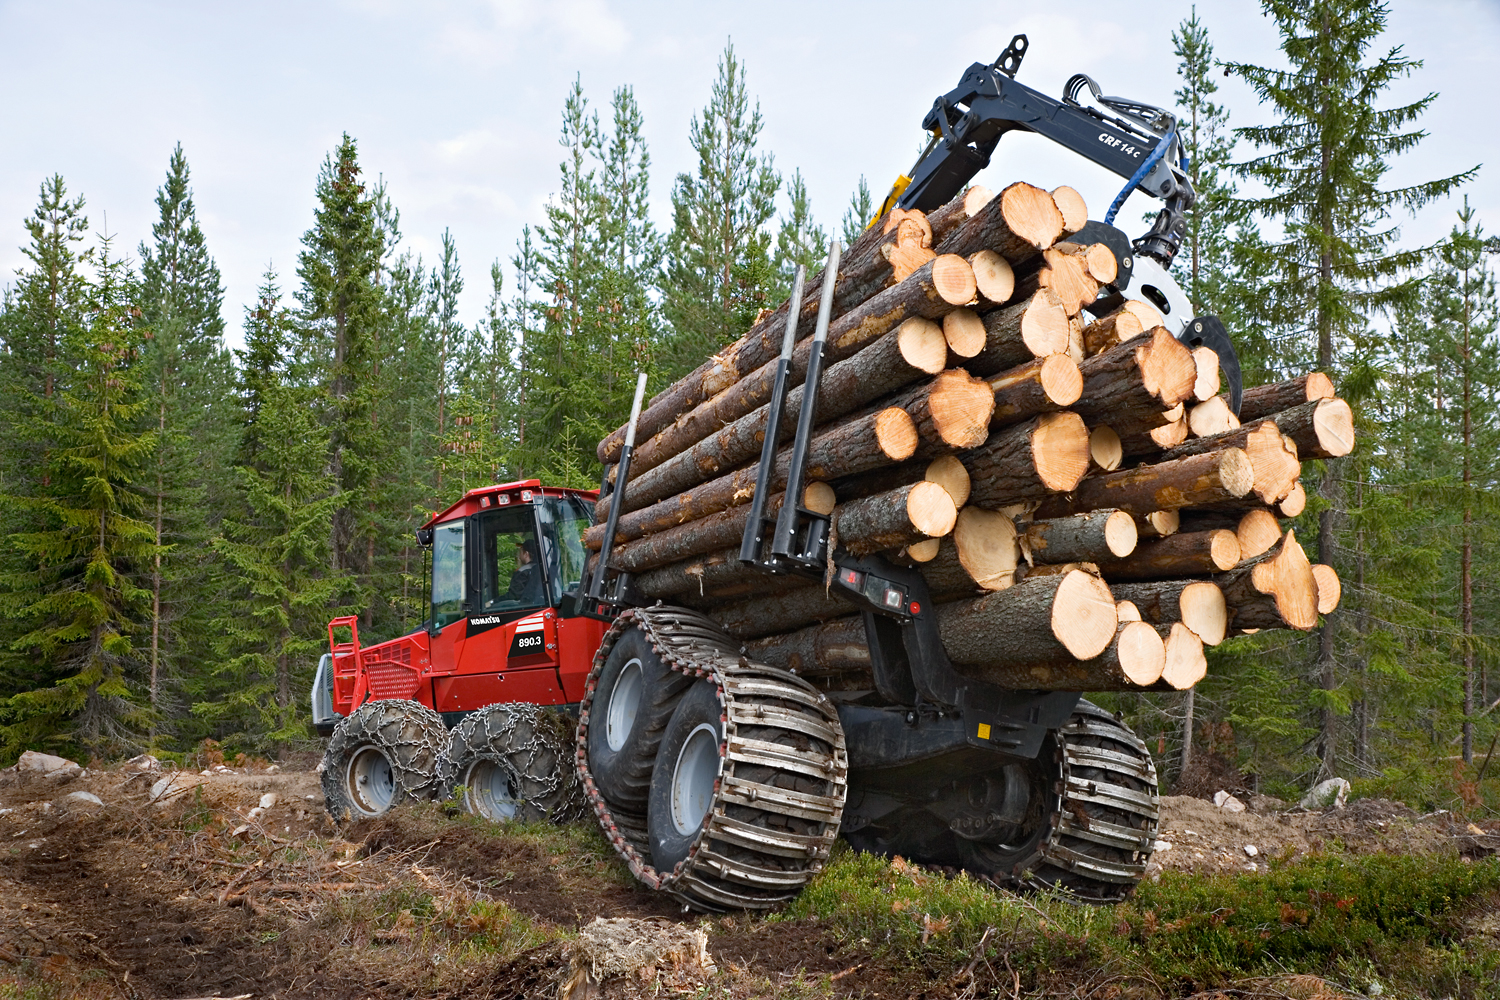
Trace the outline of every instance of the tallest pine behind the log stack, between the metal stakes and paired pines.
<instances>
[{"instance_id":1,"label":"tallest pine behind the log stack, between the metal stakes and paired pines","mask_svg":"<svg viewBox=\"0 0 1500 1000\"><path fill-rule=\"evenodd\" d=\"M698 169L672 186L662 307L670 322L666 381L750 328L774 291L771 232L782 180L771 156L758 154L764 123L752 106L746 69L726 45L708 105L693 115Z\"/></svg>"}]
</instances>

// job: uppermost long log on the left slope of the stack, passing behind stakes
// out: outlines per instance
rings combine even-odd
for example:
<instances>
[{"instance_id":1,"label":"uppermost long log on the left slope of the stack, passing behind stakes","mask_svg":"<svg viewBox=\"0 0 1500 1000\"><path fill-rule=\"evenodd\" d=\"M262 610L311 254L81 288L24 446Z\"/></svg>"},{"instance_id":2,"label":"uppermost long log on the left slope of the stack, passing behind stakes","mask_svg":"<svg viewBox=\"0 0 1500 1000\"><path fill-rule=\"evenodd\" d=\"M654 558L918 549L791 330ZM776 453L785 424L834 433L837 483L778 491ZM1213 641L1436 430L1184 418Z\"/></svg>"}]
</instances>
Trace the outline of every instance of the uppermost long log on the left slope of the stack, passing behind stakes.
<instances>
[{"instance_id":1,"label":"uppermost long log on the left slope of the stack, passing behind stakes","mask_svg":"<svg viewBox=\"0 0 1500 1000\"><path fill-rule=\"evenodd\" d=\"M878 223L866 229L858 240L849 244L849 249L840 259L838 274L834 279L834 315L848 312L855 303L864 301L885 286L891 277L891 265L876 249L882 243L894 240L896 232L885 231ZM822 270L807 280L806 291L802 292L802 309L796 324L798 339L812 336L813 333L813 327L818 322L822 285ZM746 336L652 396L650 405L640 411L636 441L644 442L650 439L704 400L734 385L766 361L774 361L782 352L789 304L789 301L783 301L777 309L759 316ZM598 442L598 460L604 465L618 460L624 444L626 427L620 426Z\"/></svg>"}]
</instances>

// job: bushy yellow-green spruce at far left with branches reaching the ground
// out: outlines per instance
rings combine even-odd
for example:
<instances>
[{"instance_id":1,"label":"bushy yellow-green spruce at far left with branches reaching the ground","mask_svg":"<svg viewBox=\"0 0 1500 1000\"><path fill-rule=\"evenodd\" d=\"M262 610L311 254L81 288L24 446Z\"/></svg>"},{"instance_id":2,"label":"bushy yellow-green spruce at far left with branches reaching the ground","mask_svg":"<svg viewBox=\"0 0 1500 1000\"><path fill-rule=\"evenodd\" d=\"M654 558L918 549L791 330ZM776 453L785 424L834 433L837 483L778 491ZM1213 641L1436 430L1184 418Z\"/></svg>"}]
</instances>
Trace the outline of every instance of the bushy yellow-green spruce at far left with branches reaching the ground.
<instances>
[{"instance_id":1,"label":"bushy yellow-green spruce at far left with branches reaching the ground","mask_svg":"<svg viewBox=\"0 0 1500 1000\"><path fill-rule=\"evenodd\" d=\"M52 190L60 195L62 184ZM9 537L24 564L0 577L0 612L22 628L10 651L26 664L20 690L0 703L3 757L68 736L94 753L117 751L136 745L147 721L132 682L148 600L140 577L154 532L141 519L138 486L156 442L140 430L146 403L132 285L105 237L81 324L57 340L56 357L72 370L66 384L48 382L45 484L6 498L39 526Z\"/></svg>"}]
</instances>

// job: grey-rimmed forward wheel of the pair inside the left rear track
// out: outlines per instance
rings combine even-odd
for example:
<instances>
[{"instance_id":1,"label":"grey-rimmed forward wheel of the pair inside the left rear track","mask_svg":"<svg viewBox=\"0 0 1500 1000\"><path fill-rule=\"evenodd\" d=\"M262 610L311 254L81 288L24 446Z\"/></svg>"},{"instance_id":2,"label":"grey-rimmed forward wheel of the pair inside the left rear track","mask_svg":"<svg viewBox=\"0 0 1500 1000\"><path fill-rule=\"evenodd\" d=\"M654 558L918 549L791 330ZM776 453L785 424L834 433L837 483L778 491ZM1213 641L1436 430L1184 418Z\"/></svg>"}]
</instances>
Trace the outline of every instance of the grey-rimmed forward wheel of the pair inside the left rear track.
<instances>
[{"instance_id":1,"label":"grey-rimmed forward wheel of the pair inside the left rear track","mask_svg":"<svg viewBox=\"0 0 1500 1000\"><path fill-rule=\"evenodd\" d=\"M612 805L646 810L657 748L692 682L662 661L640 628L609 651L588 711L588 769Z\"/></svg>"}]
</instances>

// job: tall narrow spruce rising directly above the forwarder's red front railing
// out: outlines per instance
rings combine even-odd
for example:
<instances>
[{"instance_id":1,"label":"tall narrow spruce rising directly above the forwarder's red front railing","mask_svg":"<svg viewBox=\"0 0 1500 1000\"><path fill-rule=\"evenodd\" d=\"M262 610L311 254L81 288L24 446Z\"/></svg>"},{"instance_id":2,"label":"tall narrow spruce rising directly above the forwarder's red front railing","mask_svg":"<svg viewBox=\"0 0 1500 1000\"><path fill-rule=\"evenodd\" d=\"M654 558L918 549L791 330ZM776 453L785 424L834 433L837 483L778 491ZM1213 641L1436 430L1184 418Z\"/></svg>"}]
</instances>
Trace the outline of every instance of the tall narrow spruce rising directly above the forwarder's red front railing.
<instances>
[{"instance_id":1,"label":"tall narrow spruce rising directly above the forwarder's red front railing","mask_svg":"<svg viewBox=\"0 0 1500 1000\"><path fill-rule=\"evenodd\" d=\"M376 529L369 487L378 481L382 457L375 376L384 306L376 274L386 258L386 229L360 174L357 144L345 133L318 172L318 210L302 238L297 298L327 366L328 465L340 498L330 570L358 574L368 606Z\"/></svg>"}]
</instances>

